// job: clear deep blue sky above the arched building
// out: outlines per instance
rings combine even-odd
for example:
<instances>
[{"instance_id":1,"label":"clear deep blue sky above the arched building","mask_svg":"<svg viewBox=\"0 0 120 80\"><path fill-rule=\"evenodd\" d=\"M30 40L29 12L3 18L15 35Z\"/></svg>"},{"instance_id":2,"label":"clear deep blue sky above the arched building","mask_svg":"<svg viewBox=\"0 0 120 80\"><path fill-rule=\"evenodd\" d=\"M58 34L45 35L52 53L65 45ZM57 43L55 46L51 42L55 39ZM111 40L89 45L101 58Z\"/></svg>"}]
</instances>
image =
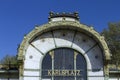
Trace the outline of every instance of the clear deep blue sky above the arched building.
<instances>
[{"instance_id":1,"label":"clear deep blue sky above the arched building","mask_svg":"<svg viewBox=\"0 0 120 80\"><path fill-rule=\"evenodd\" d=\"M49 12L79 12L98 32L120 22L120 0L0 0L0 59L17 55L25 34L48 22Z\"/></svg>"}]
</instances>

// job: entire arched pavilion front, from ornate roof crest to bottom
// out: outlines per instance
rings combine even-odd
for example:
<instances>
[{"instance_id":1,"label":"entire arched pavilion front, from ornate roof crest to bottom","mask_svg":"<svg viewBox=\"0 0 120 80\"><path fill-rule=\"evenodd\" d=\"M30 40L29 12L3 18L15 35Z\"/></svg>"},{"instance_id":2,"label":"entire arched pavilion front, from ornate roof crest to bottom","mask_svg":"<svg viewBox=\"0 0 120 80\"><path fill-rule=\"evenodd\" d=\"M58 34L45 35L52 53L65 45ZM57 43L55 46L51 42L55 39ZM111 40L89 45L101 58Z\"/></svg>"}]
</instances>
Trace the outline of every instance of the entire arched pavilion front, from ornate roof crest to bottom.
<instances>
[{"instance_id":1,"label":"entire arched pavilion front, from ornate roof crest to bottom","mask_svg":"<svg viewBox=\"0 0 120 80\"><path fill-rule=\"evenodd\" d=\"M52 15L47 24L35 27L24 37L18 49L20 80L105 80L109 77L110 52L104 37L81 24L75 16ZM75 70L80 70L80 75Z\"/></svg>"}]
</instances>

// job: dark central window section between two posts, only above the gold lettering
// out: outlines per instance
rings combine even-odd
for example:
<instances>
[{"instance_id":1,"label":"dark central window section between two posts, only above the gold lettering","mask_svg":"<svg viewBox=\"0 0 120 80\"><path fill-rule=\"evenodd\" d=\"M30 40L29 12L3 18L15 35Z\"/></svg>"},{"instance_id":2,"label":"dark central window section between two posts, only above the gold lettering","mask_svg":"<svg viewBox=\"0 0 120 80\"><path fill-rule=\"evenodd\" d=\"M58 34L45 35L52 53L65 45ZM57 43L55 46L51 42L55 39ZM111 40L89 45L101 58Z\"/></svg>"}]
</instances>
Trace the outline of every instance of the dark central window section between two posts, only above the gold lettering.
<instances>
[{"instance_id":1,"label":"dark central window section between two posts, only above the gold lettering","mask_svg":"<svg viewBox=\"0 0 120 80\"><path fill-rule=\"evenodd\" d=\"M54 69L74 69L74 50L56 49L54 55Z\"/></svg>"}]
</instances>

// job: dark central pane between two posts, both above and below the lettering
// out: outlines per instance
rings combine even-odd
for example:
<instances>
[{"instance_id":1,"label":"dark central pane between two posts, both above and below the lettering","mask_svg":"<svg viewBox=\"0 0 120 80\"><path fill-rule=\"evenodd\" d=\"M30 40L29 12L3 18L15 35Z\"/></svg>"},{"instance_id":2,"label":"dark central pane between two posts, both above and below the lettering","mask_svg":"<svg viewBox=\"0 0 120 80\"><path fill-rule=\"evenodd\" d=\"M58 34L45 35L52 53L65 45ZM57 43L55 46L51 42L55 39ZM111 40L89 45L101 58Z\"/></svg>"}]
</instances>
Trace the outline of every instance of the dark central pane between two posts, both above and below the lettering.
<instances>
[{"instance_id":1,"label":"dark central pane between two posts, both above and below the lettering","mask_svg":"<svg viewBox=\"0 0 120 80\"><path fill-rule=\"evenodd\" d=\"M54 51L54 69L74 70L74 50L56 49ZM74 76L55 76L54 80L74 80Z\"/></svg>"}]
</instances>

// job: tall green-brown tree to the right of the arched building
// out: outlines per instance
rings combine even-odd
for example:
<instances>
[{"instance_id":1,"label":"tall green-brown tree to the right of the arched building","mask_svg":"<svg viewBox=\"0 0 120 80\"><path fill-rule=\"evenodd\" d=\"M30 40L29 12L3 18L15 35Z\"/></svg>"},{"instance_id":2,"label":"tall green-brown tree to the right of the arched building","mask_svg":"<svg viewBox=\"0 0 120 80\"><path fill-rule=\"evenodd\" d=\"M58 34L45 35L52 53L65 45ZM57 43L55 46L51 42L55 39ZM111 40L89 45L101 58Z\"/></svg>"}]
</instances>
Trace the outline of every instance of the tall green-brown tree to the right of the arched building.
<instances>
[{"instance_id":1,"label":"tall green-brown tree to the right of the arched building","mask_svg":"<svg viewBox=\"0 0 120 80\"><path fill-rule=\"evenodd\" d=\"M120 65L120 23L109 23L102 32L112 54L111 63Z\"/></svg>"}]
</instances>

